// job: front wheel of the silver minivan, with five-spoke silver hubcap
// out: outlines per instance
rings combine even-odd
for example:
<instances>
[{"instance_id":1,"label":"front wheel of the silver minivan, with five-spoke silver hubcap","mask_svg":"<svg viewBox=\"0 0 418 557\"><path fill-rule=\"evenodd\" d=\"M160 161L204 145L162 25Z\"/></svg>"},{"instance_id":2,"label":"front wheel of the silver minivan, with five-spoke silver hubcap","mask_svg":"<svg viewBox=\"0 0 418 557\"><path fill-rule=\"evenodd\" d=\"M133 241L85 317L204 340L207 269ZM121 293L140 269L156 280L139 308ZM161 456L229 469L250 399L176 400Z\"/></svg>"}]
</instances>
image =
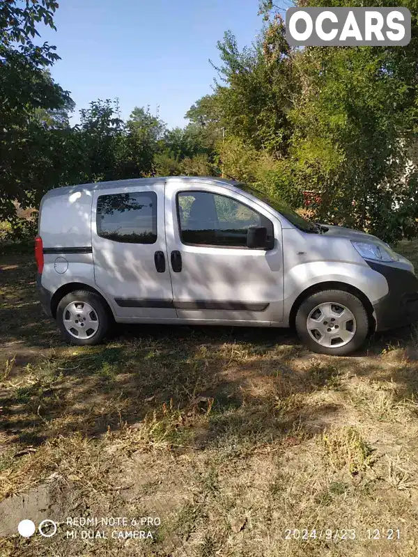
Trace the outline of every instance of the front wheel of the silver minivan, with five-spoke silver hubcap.
<instances>
[{"instance_id":1,"label":"front wheel of the silver minivan, with five-spoke silver hubcap","mask_svg":"<svg viewBox=\"0 0 418 557\"><path fill-rule=\"evenodd\" d=\"M309 296L300 304L295 318L297 334L309 350L334 356L358 350L369 334L370 324L362 301L343 290L323 290Z\"/></svg>"}]
</instances>

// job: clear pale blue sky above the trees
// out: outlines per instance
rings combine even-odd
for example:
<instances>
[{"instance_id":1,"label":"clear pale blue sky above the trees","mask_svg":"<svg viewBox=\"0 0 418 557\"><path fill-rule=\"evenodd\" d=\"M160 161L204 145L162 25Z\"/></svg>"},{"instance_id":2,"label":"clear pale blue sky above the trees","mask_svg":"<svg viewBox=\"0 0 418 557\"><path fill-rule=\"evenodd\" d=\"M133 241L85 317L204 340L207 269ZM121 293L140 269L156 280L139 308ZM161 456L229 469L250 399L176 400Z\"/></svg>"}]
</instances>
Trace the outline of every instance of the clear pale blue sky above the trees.
<instances>
[{"instance_id":1,"label":"clear pale blue sky above the trees","mask_svg":"<svg viewBox=\"0 0 418 557\"><path fill-rule=\"evenodd\" d=\"M212 92L216 44L231 30L250 45L263 20L258 0L61 0L56 31L40 28L61 60L52 77L78 110L118 97L122 118L150 105L168 127L183 127L189 107Z\"/></svg>"}]
</instances>

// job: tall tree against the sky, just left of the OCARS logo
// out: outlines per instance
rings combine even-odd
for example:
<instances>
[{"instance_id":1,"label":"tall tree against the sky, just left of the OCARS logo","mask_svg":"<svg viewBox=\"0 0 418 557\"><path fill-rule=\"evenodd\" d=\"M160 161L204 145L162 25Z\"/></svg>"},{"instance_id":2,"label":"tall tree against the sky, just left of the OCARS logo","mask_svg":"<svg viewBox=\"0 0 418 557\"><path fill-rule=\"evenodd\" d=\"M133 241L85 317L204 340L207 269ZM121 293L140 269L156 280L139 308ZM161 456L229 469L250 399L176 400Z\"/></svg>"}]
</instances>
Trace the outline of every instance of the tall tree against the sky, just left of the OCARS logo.
<instances>
[{"instance_id":1,"label":"tall tree against the sky, just left of the OCARS logo","mask_svg":"<svg viewBox=\"0 0 418 557\"><path fill-rule=\"evenodd\" d=\"M285 156L295 87L283 22L275 18L242 51L231 32L217 46L222 65L215 69L223 83L217 84L217 107L226 132L258 150Z\"/></svg>"}]
</instances>

